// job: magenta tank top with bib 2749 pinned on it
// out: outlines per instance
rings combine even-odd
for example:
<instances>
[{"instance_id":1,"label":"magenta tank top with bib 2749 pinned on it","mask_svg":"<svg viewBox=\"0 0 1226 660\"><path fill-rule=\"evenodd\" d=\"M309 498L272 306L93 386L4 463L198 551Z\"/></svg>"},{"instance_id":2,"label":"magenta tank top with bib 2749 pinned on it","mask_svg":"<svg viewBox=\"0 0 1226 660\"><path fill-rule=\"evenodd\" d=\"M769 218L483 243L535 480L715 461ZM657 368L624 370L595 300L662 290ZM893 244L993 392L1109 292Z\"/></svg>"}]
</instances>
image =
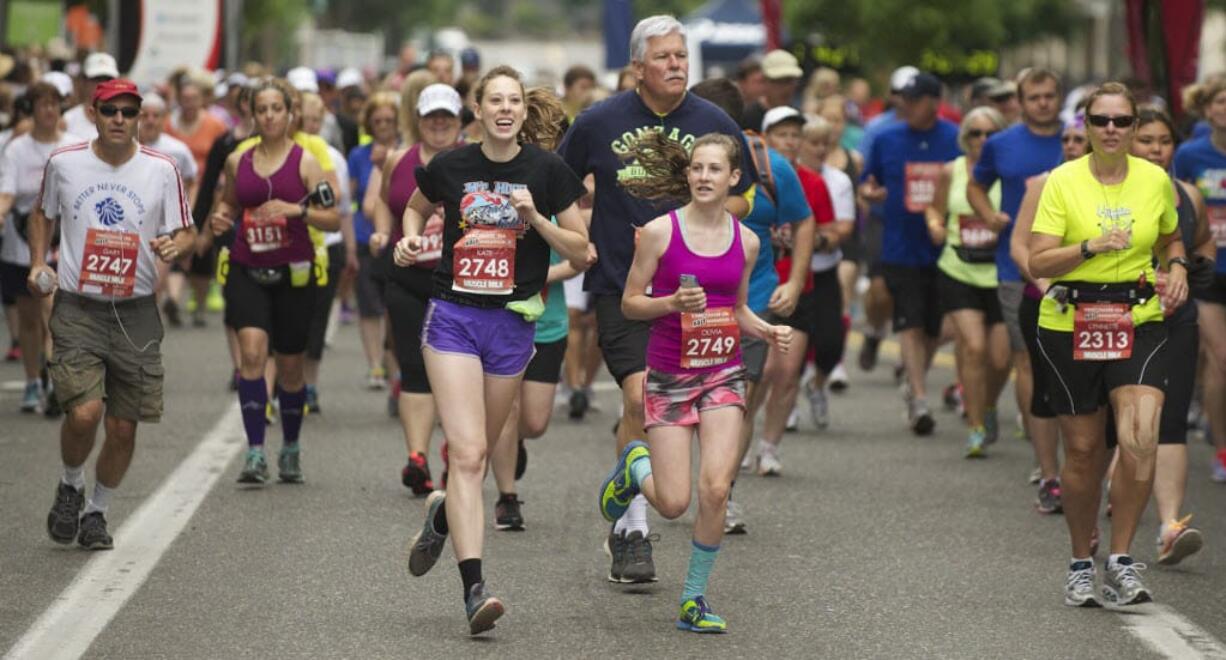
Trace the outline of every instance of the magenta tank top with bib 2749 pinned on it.
<instances>
[{"instance_id":1,"label":"magenta tank top with bib 2749 pinned on it","mask_svg":"<svg viewBox=\"0 0 1226 660\"><path fill-rule=\"evenodd\" d=\"M706 310L672 313L652 321L647 367L664 373L696 374L741 364L739 329L732 312L745 270L741 223L728 216L732 240L723 254L695 254L685 243L677 211L668 213L673 233L651 278L652 297L672 296L682 275L693 275L706 292Z\"/></svg>"}]
</instances>

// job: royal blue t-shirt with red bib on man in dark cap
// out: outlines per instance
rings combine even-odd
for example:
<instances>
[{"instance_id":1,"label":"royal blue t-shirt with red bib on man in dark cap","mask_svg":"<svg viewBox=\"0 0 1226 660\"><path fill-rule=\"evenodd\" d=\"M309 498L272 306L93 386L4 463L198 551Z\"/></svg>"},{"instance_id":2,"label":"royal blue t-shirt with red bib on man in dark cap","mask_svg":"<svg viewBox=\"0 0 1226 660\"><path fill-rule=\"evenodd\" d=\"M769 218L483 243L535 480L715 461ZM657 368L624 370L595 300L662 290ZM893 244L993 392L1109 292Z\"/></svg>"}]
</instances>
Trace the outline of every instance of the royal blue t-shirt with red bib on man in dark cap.
<instances>
[{"instance_id":1,"label":"royal blue t-shirt with red bib on man in dark cap","mask_svg":"<svg viewBox=\"0 0 1226 660\"><path fill-rule=\"evenodd\" d=\"M938 119L933 128L913 130L896 124L873 140L861 180L875 177L886 189L885 231L881 233L881 263L894 266L935 266L940 247L933 245L924 223L923 207L932 202L935 175L959 157L958 126ZM911 172L911 209L907 172Z\"/></svg>"}]
</instances>

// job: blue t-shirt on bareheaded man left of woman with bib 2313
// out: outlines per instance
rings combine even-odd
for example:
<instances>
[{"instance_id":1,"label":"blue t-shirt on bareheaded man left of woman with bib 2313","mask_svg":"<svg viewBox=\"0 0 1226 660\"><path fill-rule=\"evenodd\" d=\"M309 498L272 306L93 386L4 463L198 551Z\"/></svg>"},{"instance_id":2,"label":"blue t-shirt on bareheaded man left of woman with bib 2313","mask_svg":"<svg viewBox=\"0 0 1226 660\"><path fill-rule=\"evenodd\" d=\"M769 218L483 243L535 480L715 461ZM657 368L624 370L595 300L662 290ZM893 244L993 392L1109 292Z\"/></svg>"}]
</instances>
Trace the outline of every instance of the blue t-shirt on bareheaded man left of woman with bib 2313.
<instances>
[{"instance_id":1,"label":"blue t-shirt on bareheaded man left of woman with bib 2313","mask_svg":"<svg viewBox=\"0 0 1226 660\"><path fill-rule=\"evenodd\" d=\"M1059 132L1036 135L1025 124L1016 124L983 144L980 162L975 163L975 180L989 190L999 180L1000 211L1016 218L1021 198L1026 195L1026 180L1051 171L1063 159ZM997 278L1002 282L1021 281L1021 272L1009 256L1011 236L1013 222L997 237Z\"/></svg>"}]
</instances>

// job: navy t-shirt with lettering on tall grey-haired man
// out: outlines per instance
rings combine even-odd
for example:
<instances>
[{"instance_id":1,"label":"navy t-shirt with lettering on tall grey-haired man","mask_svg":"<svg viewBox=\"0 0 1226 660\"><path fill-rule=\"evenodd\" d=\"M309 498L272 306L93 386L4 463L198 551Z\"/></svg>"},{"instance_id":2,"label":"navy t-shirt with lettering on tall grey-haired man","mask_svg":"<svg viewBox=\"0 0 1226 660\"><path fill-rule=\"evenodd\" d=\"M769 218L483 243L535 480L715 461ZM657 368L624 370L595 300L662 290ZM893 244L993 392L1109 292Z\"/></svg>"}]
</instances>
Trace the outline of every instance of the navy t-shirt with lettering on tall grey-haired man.
<instances>
[{"instance_id":1,"label":"navy t-shirt with lettering on tall grey-haired man","mask_svg":"<svg viewBox=\"0 0 1226 660\"><path fill-rule=\"evenodd\" d=\"M584 110L575 118L562 140L558 153L580 178L596 177L592 207L591 242L600 259L584 277L584 288L592 293L617 293L634 260L634 232L668 212L676 204L652 204L630 196L618 182L642 177L638 164L622 159L646 131L662 131L687 148L709 132L722 132L741 140L741 182L732 189L739 195L756 180L749 150L744 148L741 128L714 103L687 93L673 112L661 117L651 110L634 90L620 92Z\"/></svg>"}]
</instances>

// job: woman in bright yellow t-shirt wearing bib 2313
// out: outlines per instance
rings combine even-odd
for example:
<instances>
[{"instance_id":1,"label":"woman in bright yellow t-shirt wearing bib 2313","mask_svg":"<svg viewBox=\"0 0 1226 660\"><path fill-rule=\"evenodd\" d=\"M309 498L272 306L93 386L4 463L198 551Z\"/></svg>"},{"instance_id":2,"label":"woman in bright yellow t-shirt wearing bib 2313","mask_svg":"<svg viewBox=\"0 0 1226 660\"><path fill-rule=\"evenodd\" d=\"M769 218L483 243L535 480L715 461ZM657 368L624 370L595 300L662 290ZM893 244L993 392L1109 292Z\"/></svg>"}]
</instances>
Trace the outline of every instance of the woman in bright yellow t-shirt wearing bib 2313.
<instances>
[{"instance_id":1,"label":"woman in bright yellow t-shirt wearing bib 2313","mask_svg":"<svg viewBox=\"0 0 1226 660\"><path fill-rule=\"evenodd\" d=\"M1107 82L1090 93L1092 151L1052 171L1030 238L1030 272L1051 278L1040 307L1038 348L1052 370L1051 402L1064 434L1064 516L1073 559L1064 604L1098 606L1091 537L1106 460L1110 401L1122 449L1111 478L1111 554L1102 597L1148 602L1144 564L1129 548L1154 481L1167 375L1163 309L1188 293L1175 190L1160 167L1128 153L1137 102ZM1168 270L1154 288L1154 255ZM1160 299L1161 298L1161 299Z\"/></svg>"}]
</instances>

